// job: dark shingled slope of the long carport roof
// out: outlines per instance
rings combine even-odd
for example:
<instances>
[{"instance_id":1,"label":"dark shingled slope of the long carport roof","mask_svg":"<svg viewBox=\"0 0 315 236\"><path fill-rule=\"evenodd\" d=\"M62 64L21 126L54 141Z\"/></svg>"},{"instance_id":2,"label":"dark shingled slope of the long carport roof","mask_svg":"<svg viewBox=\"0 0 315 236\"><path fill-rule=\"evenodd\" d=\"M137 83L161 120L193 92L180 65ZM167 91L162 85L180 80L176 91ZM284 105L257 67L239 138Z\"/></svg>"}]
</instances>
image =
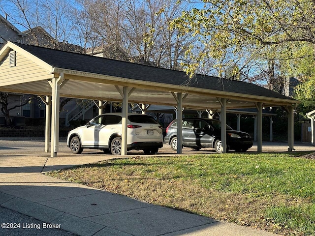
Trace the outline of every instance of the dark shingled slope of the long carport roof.
<instances>
[{"instance_id":1,"label":"dark shingled slope of the long carport roof","mask_svg":"<svg viewBox=\"0 0 315 236\"><path fill-rule=\"evenodd\" d=\"M298 102L280 93L242 81L226 80L200 74L195 75L195 77L190 80L189 76L183 71L158 68L115 59L99 58L32 45L14 44L56 68L169 85L185 85L191 88L280 98L292 100L292 103Z\"/></svg>"}]
</instances>

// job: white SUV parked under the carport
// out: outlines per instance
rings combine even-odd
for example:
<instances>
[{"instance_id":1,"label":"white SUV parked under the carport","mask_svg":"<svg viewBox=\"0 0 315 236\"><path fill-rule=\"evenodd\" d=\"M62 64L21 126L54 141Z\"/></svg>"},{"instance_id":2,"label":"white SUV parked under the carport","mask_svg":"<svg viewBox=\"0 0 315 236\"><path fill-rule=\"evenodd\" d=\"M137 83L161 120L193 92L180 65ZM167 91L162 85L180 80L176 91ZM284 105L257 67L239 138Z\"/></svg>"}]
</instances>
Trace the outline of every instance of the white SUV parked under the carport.
<instances>
[{"instance_id":1,"label":"white SUV parked under the carport","mask_svg":"<svg viewBox=\"0 0 315 236\"><path fill-rule=\"evenodd\" d=\"M91 119L86 125L68 133L67 146L79 154L83 148L110 151L121 155L122 113L108 113ZM163 147L162 127L149 115L128 114L127 149L142 149L145 154L155 154Z\"/></svg>"}]
</instances>

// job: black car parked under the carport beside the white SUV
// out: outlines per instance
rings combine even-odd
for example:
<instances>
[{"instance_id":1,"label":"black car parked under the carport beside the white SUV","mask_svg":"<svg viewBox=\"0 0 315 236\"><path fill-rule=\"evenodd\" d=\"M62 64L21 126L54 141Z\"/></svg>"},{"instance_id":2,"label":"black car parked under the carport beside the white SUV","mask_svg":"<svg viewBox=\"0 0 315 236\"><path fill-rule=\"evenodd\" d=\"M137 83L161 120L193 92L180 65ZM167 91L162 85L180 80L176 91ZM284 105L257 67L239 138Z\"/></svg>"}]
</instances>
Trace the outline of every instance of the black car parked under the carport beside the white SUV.
<instances>
[{"instance_id":1,"label":"black car parked under the carport beside the white SUV","mask_svg":"<svg viewBox=\"0 0 315 236\"><path fill-rule=\"evenodd\" d=\"M177 150L177 119L166 128L165 143ZM215 148L221 153L221 121L209 118L183 118L183 147L199 150L200 148ZM251 136L248 133L233 130L226 125L227 150L245 152L252 147ZM227 151L226 150L226 151Z\"/></svg>"}]
</instances>

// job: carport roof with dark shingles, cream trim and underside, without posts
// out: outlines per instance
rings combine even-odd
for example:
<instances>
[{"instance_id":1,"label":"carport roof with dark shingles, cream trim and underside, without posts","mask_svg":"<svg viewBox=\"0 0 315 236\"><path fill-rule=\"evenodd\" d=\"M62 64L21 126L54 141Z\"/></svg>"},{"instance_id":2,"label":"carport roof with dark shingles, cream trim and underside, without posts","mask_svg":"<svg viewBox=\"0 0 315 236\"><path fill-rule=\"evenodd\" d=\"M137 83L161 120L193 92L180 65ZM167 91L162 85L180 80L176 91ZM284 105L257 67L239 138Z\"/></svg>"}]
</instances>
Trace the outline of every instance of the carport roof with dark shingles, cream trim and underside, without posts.
<instances>
[{"instance_id":1,"label":"carport roof with dark shingles, cream trim and underside, without posts","mask_svg":"<svg viewBox=\"0 0 315 236\"><path fill-rule=\"evenodd\" d=\"M253 102L262 102L265 106L299 103L280 93L246 82L199 74L189 79L189 76L182 71L12 42L7 42L0 50L0 67L11 50L19 52L45 68L48 73L54 74L52 78L63 73L65 79L72 80L72 84L67 82L61 89L61 95L65 97L121 101L119 91L114 87L116 85L136 88L130 96L130 102L176 105L170 92L188 93L183 106L195 109L220 108L217 97L229 98L229 109L254 107ZM10 70L14 69L14 67L10 68ZM27 69L30 68L25 68ZM36 74L33 76L35 78ZM47 85L43 86L39 81L46 81ZM21 84L25 85L21 86ZM99 86L95 86L96 84ZM95 89L96 87L99 91ZM13 81L10 83L10 75L2 73L0 75L1 89L41 95L51 93L47 78L34 79L34 81L28 79L24 83ZM160 101L158 101L159 98Z\"/></svg>"}]
</instances>

